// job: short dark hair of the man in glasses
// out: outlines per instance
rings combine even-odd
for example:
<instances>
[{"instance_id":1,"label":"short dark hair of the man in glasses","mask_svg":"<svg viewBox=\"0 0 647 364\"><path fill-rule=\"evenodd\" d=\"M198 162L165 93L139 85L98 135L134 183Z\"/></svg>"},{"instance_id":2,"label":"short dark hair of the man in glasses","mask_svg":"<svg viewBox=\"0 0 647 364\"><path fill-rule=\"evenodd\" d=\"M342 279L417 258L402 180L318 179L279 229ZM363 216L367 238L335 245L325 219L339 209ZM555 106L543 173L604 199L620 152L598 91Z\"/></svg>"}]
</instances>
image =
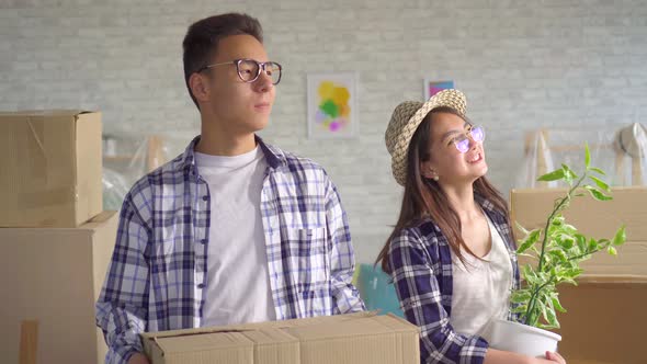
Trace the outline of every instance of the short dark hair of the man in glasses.
<instances>
[{"instance_id":1,"label":"short dark hair of the man in glasses","mask_svg":"<svg viewBox=\"0 0 647 364\"><path fill-rule=\"evenodd\" d=\"M184 55L184 82L193 103L200 109L191 92L189 78L197 72L216 55L218 42L231 36L248 34L263 43L263 29L256 18L240 13L226 13L200 20L189 26L182 42Z\"/></svg>"}]
</instances>

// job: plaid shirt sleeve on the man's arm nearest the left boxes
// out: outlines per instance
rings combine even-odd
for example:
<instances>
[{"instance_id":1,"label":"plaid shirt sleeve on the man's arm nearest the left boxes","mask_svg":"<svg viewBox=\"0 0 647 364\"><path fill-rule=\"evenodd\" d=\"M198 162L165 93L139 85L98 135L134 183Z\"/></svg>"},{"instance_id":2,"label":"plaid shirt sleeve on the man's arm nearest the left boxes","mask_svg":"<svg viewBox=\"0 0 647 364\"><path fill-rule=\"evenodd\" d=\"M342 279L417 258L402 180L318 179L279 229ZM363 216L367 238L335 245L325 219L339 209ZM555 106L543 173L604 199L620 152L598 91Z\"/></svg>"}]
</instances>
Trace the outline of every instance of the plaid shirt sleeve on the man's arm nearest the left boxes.
<instances>
[{"instance_id":1,"label":"plaid shirt sleeve on the man's arm nearest the left boxes","mask_svg":"<svg viewBox=\"0 0 647 364\"><path fill-rule=\"evenodd\" d=\"M128 194L122 206L116 243L97 302L97 326L103 331L106 363L126 363L143 352L139 333L147 327L148 263L145 252L149 229Z\"/></svg>"}]
</instances>

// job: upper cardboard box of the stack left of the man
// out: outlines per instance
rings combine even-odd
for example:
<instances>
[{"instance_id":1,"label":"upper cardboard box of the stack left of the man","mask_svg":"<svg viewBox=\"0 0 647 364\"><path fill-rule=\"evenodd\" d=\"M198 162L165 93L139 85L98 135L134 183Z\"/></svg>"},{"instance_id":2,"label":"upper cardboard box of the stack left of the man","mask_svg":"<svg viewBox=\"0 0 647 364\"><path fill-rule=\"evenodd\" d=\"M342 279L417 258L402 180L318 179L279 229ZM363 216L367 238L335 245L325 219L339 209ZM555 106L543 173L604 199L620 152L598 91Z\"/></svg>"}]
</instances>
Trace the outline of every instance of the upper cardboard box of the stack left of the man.
<instances>
[{"instance_id":1,"label":"upper cardboard box of the stack left of the man","mask_svg":"<svg viewBox=\"0 0 647 364\"><path fill-rule=\"evenodd\" d=\"M0 113L0 227L77 227L103 211L101 114Z\"/></svg>"}]
</instances>

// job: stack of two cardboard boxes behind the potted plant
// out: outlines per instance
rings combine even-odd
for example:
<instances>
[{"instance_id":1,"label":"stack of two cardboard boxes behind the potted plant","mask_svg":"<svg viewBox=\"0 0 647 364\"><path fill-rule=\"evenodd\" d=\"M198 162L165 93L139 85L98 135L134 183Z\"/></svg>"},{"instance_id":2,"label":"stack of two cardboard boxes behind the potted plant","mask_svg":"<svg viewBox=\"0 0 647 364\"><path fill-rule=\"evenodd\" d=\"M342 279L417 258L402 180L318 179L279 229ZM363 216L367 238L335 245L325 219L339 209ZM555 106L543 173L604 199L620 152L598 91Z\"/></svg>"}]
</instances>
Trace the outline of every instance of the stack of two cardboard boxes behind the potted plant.
<instances>
[{"instance_id":1,"label":"stack of two cardboard boxes behind the potted plant","mask_svg":"<svg viewBox=\"0 0 647 364\"><path fill-rule=\"evenodd\" d=\"M513 190L512 224L544 227L563 189ZM568 224L593 238L613 238L626 226L627 241L616 257L599 252L581 263L579 285L561 285L559 297L568 310L559 314L559 351L568 363L644 363L642 339L647 328L647 187L613 187L612 201L576 198L564 214ZM517 237L521 238L519 232ZM520 264L525 261L520 258Z\"/></svg>"}]
</instances>

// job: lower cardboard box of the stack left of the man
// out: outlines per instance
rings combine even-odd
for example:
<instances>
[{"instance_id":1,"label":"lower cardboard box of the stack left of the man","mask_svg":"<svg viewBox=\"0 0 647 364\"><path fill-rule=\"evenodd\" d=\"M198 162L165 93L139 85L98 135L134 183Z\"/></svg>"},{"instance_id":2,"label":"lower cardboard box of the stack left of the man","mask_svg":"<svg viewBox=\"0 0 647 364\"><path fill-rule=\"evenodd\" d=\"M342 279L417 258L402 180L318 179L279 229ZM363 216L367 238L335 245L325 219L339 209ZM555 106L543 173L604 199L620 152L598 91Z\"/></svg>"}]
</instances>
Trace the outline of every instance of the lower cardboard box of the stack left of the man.
<instances>
[{"instance_id":1,"label":"lower cardboard box of the stack left of the man","mask_svg":"<svg viewBox=\"0 0 647 364\"><path fill-rule=\"evenodd\" d=\"M1 362L19 362L21 325L35 320L36 363L103 363L94 303L117 220L105 212L78 228L0 228Z\"/></svg>"}]
</instances>

